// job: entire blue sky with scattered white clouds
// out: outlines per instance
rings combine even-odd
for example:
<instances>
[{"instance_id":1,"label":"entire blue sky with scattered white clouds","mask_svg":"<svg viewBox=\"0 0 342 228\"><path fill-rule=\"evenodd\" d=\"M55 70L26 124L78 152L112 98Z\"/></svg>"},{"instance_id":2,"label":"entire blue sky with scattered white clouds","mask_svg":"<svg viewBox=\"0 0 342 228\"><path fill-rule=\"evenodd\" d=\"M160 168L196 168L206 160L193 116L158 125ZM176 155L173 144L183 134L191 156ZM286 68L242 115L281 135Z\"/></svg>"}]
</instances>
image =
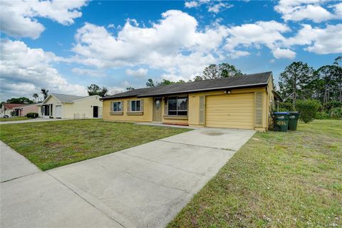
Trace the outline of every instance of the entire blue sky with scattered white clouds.
<instances>
[{"instance_id":1,"label":"entire blue sky with scattered white clouds","mask_svg":"<svg viewBox=\"0 0 342 228\"><path fill-rule=\"evenodd\" d=\"M294 61L342 55L342 1L0 0L0 11L1 101L188 81L212 63L277 83Z\"/></svg>"}]
</instances>

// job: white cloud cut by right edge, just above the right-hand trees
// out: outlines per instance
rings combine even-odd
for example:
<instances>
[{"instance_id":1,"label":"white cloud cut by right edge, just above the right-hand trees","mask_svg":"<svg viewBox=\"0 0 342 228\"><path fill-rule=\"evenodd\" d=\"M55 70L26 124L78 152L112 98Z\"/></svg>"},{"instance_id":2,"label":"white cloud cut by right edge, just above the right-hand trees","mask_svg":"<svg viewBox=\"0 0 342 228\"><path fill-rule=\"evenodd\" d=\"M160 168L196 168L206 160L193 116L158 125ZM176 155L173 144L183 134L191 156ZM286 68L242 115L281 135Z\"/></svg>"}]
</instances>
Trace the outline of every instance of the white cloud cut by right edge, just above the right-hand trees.
<instances>
[{"instance_id":1,"label":"white cloud cut by right edge, just above the right-hand trees","mask_svg":"<svg viewBox=\"0 0 342 228\"><path fill-rule=\"evenodd\" d=\"M296 36L286 39L286 46L306 46L305 50L318 53L342 53L342 24L313 28L304 24Z\"/></svg>"}]
</instances>

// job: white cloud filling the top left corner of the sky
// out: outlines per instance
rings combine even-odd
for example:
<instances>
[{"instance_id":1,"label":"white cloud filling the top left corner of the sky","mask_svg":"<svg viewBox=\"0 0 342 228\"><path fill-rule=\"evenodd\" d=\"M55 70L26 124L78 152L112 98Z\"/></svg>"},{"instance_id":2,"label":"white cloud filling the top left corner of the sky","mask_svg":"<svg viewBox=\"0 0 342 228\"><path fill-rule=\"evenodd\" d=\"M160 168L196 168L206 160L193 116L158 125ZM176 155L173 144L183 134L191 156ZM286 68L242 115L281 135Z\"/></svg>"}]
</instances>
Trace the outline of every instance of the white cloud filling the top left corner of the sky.
<instances>
[{"instance_id":1,"label":"white cloud filling the top left corner of the sky","mask_svg":"<svg viewBox=\"0 0 342 228\"><path fill-rule=\"evenodd\" d=\"M80 9L87 4L80 1L0 1L0 28L9 36L38 38L44 26L37 17L51 19L59 24L73 24L82 15Z\"/></svg>"}]
</instances>

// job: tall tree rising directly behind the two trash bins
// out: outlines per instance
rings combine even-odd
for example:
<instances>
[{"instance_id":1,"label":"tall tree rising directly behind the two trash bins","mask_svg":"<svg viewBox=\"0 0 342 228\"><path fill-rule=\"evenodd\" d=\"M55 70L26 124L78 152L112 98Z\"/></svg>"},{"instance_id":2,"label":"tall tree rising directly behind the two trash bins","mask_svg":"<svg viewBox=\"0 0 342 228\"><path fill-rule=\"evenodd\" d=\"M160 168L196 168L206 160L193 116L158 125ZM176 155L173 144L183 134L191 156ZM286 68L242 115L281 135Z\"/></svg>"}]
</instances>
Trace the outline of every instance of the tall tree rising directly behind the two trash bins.
<instances>
[{"instance_id":1,"label":"tall tree rising directly behind the two trash bins","mask_svg":"<svg viewBox=\"0 0 342 228\"><path fill-rule=\"evenodd\" d=\"M296 100L299 94L305 93L306 86L314 79L314 69L307 63L294 62L286 66L279 76L281 94L287 97L292 94L292 105L296 108Z\"/></svg>"}]
</instances>

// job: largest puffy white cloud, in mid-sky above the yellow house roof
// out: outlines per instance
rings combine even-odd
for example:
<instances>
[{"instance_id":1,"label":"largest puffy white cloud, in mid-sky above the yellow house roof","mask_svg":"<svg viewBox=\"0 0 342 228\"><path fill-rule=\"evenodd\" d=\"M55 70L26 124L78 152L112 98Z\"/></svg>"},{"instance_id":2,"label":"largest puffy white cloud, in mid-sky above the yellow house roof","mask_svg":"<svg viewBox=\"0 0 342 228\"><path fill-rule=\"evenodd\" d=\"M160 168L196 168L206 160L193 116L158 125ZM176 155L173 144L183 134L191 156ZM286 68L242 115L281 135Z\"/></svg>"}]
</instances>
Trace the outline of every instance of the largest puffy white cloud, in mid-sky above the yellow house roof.
<instances>
[{"instance_id":1,"label":"largest puffy white cloud, in mid-sky above the yellow house roof","mask_svg":"<svg viewBox=\"0 0 342 228\"><path fill-rule=\"evenodd\" d=\"M166 11L150 28L131 21L117 36L103 26L85 24L76 33L73 59L98 68L147 65L190 77L223 58L219 46L227 36L225 26L199 31L194 17L177 10Z\"/></svg>"}]
</instances>

